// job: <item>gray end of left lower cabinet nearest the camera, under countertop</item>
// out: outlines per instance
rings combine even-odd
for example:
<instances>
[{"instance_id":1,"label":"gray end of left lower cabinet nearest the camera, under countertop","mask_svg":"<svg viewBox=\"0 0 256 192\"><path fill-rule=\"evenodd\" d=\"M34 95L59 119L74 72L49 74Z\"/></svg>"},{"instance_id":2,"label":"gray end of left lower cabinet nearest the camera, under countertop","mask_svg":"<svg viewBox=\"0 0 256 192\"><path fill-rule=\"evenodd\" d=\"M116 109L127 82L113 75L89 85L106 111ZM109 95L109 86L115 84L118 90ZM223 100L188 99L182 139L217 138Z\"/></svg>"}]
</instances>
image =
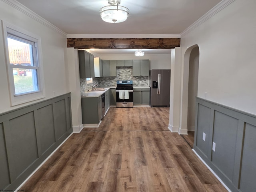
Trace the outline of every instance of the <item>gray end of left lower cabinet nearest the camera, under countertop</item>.
<instances>
[{"instance_id":1,"label":"gray end of left lower cabinet nearest the camera, under countertop","mask_svg":"<svg viewBox=\"0 0 256 192\"><path fill-rule=\"evenodd\" d=\"M99 97L82 97L82 123L98 124L102 119L102 100Z\"/></svg>"}]
</instances>

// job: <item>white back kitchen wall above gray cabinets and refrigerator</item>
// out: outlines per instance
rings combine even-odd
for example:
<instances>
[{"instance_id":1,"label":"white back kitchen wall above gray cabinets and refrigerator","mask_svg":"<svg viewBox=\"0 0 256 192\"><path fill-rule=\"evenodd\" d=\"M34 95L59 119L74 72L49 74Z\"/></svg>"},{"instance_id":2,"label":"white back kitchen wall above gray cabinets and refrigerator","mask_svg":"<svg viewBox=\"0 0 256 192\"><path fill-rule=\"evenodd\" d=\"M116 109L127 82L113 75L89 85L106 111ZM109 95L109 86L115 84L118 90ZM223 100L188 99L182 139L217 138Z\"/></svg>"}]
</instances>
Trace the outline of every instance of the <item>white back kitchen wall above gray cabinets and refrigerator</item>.
<instances>
[{"instance_id":1,"label":"white back kitchen wall above gray cabinets and refrigerator","mask_svg":"<svg viewBox=\"0 0 256 192\"><path fill-rule=\"evenodd\" d=\"M150 67L152 69L171 69L171 54L146 54L142 57L135 56L134 54L104 54L99 55L101 59L106 60L129 60L129 59L149 59Z\"/></svg>"}]
</instances>

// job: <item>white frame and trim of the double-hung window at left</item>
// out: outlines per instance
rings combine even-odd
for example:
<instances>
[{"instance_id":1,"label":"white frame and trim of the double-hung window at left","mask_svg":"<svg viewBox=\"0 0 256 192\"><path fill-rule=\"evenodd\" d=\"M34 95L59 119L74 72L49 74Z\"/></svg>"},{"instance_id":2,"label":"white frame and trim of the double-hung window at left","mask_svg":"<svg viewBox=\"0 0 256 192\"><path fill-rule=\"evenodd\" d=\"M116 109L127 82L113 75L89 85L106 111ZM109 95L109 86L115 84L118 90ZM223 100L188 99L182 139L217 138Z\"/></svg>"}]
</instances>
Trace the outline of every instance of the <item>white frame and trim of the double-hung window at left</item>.
<instances>
[{"instance_id":1,"label":"white frame and trim of the double-hung window at left","mask_svg":"<svg viewBox=\"0 0 256 192\"><path fill-rule=\"evenodd\" d=\"M19 104L24 104L26 102L31 102L34 100L45 98L44 91L44 74L43 74L43 62L42 62L42 52L41 52L41 38L31 32L28 32L22 28L14 26L8 22L2 20L2 26L4 31L4 45L6 53L6 68L8 74L8 85L10 93L11 106L16 106ZM33 69L37 70L37 80L38 80L38 90L34 92L27 92L23 94L15 94L14 88L14 78L13 78L13 68L14 66L10 65L9 51L8 51L8 34L16 36L20 39L28 40L28 42L34 42L36 46L36 51L33 54L35 66ZM24 66L25 67L25 66ZM23 68L23 66L19 66ZM25 68L28 68L27 66Z\"/></svg>"}]
</instances>

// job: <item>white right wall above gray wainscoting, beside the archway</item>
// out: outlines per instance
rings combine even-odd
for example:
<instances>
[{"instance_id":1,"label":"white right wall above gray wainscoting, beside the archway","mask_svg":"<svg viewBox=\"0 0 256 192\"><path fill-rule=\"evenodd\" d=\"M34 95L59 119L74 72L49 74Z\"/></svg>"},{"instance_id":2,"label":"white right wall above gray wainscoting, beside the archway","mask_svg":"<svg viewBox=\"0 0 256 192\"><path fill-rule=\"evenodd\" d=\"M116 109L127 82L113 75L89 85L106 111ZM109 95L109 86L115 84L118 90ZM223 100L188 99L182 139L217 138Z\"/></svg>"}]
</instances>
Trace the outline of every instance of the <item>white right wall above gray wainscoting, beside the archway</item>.
<instances>
[{"instance_id":1,"label":"white right wall above gray wainscoting, beside the archway","mask_svg":"<svg viewBox=\"0 0 256 192\"><path fill-rule=\"evenodd\" d=\"M256 114L256 1L235 0L181 38L200 49L198 97Z\"/></svg>"}]
</instances>

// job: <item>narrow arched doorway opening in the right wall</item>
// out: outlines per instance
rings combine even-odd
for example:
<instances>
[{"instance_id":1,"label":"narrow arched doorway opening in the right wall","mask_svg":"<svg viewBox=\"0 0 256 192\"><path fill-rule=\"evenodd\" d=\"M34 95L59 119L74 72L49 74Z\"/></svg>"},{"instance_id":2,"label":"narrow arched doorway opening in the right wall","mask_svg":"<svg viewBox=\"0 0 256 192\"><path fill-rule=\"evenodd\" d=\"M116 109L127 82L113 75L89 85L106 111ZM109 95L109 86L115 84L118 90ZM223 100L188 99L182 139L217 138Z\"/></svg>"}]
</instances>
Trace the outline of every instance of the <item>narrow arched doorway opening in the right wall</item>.
<instances>
[{"instance_id":1,"label":"narrow arched doorway opening in the right wall","mask_svg":"<svg viewBox=\"0 0 256 192\"><path fill-rule=\"evenodd\" d=\"M186 50L183 64L179 134L188 134L188 130L194 130L199 66L198 45L191 46Z\"/></svg>"}]
</instances>

